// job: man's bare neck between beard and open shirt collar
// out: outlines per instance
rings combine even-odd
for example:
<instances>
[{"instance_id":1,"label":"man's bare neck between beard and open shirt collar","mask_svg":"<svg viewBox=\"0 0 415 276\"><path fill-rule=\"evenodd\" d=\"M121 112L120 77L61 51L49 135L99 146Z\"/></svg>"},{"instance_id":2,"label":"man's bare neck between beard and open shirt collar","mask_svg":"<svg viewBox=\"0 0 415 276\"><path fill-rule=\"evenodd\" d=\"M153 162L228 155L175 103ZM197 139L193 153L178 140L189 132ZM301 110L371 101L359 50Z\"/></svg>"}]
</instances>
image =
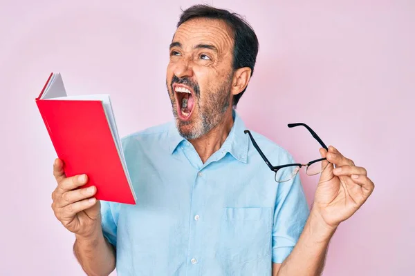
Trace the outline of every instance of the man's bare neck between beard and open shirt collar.
<instances>
[{"instance_id":1,"label":"man's bare neck between beard and open shirt collar","mask_svg":"<svg viewBox=\"0 0 415 276\"><path fill-rule=\"evenodd\" d=\"M203 164L211 157L216 150L219 150L229 135L233 126L232 107L226 111L223 121L212 128L210 132L198 139L190 140L201 157Z\"/></svg>"}]
</instances>

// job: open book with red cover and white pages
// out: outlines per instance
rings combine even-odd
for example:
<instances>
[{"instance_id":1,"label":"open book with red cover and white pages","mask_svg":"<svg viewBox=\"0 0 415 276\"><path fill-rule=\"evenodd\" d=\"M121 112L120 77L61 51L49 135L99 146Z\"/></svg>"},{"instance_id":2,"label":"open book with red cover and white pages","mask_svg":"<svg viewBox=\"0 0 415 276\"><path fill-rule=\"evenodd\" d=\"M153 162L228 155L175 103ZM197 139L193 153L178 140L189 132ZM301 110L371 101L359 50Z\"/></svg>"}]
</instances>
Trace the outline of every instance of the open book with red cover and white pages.
<instances>
[{"instance_id":1,"label":"open book with red cover and white pages","mask_svg":"<svg viewBox=\"0 0 415 276\"><path fill-rule=\"evenodd\" d=\"M109 95L67 96L51 73L36 104L66 177L86 174L80 188L96 186L96 199L136 204Z\"/></svg>"}]
</instances>

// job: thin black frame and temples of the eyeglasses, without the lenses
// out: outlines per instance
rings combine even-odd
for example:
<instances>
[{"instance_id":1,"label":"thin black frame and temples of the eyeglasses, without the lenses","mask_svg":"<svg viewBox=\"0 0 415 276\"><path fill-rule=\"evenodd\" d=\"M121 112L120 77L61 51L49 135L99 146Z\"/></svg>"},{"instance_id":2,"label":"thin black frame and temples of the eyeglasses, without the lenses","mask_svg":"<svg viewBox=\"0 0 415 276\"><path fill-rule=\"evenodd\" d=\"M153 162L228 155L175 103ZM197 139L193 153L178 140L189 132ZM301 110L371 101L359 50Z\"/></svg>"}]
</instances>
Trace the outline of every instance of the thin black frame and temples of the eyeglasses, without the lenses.
<instances>
[{"instance_id":1,"label":"thin black frame and temples of the eyeglasses, without the lenses","mask_svg":"<svg viewBox=\"0 0 415 276\"><path fill-rule=\"evenodd\" d=\"M304 126L311 133L311 135L313 135L314 139L316 139L318 141L318 143L320 144L320 146L322 146L322 148L326 149L327 151L329 150L329 148L327 148L326 144L324 144L324 142L322 141L322 139L320 139L320 137L317 135L317 133L315 133L315 131L312 130L306 124L304 124L304 123L288 124L288 128L294 128L296 126ZM249 130L244 130L243 133L245 133L245 134L248 133L248 135L249 135L249 137L252 141L252 144L254 145L254 148L257 150L259 155L261 155L262 159L264 159L265 163L270 168L270 170L275 172L275 181L277 181L276 176L277 176L278 170L280 170L282 168L287 168L287 167L291 167L291 166L298 166L299 169L301 169L304 166L306 166L308 168L308 166L311 166L314 163L327 160L326 158L320 158L320 159L315 159L315 160L309 161L307 164L293 163L293 164L284 164L284 165L279 165L279 166L273 166L273 164L271 164L271 162L268 160L268 158L266 158L266 156L264 155L264 152L262 152L261 148L259 148L259 146L258 146L257 142L255 141L254 137L252 137L251 132ZM327 166L324 167L324 169L322 169L320 172L317 172L315 175L318 175L319 173L324 171L326 168L327 168ZM299 169L297 170L297 172L295 172L295 175L297 175L297 173L299 172ZM295 175L293 175L293 177L291 177L290 179L288 179L286 181L290 181L291 179L293 179L295 177ZM277 182L286 182L286 181L277 181Z\"/></svg>"}]
</instances>

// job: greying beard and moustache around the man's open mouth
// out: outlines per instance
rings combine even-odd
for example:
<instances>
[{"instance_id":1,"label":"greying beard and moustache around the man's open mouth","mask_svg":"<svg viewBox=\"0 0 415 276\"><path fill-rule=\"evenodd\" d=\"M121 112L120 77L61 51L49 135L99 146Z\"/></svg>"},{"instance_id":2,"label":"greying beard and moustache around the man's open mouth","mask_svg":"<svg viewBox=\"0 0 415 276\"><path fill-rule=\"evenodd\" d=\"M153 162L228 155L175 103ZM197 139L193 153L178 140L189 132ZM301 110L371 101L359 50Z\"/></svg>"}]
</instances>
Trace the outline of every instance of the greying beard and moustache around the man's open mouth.
<instances>
[{"instance_id":1,"label":"greying beard and moustache around the man's open mouth","mask_svg":"<svg viewBox=\"0 0 415 276\"><path fill-rule=\"evenodd\" d=\"M226 81L221 83L221 86L214 90L212 87L208 87L203 90L203 97L201 97L201 91L199 84L192 81L187 77L179 79L174 76L170 89L166 81L167 92L169 93L170 101L172 103L172 112L176 119L176 128L179 134L185 139L198 139L203 135L208 134L210 130L221 124L224 118L226 110L230 106L230 83L232 81L232 75L229 75ZM193 108L192 117L189 121L182 121L177 114L176 97L174 96L173 84L183 83L190 86L194 91L196 97L195 105ZM171 92L170 92L171 91Z\"/></svg>"}]
</instances>

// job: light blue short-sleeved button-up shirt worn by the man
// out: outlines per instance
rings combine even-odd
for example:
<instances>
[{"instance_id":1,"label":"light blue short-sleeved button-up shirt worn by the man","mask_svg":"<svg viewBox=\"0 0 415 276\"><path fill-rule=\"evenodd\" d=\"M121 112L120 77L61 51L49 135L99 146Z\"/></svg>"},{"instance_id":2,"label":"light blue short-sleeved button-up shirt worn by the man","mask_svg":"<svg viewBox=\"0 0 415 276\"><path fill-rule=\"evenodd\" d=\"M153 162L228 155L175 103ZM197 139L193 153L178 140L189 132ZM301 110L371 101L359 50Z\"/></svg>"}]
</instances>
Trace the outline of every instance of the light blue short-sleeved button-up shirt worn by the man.
<instances>
[{"instance_id":1,"label":"light blue short-sleeved button-up shirt worn by the man","mask_svg":"<svg viewBox=\"0 0 415 276\"><path fill-rule=\"evenodd\" d=\"M234 112L205 164L174 122L122 139L137 204L101 202L119 276L262 276L286 259L309 214L304 190L299 175L278 184L243 130ZM252 135L274 166L294 162Z\"/></svg>"}]
</instances>

